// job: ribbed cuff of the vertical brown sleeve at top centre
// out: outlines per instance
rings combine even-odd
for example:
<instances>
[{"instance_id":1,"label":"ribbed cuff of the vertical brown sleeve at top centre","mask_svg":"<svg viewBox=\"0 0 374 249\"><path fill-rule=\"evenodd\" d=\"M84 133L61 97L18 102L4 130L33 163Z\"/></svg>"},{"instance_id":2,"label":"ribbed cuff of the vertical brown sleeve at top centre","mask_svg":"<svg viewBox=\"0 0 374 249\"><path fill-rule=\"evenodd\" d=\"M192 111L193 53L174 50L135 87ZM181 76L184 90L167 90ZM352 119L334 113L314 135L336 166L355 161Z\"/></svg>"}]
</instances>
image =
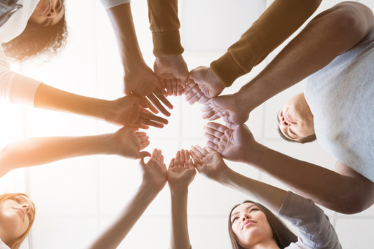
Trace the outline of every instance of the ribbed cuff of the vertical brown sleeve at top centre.
<instances>
[{"instance_id":1,"label":"ribbed cuff of the vertical brown sleeve at top centre","mask_svg":"<svg viewBox=\"0 0 374 249\"><path fill-rule=\"evenodd\" d=\"M153 54L156 57L182 55L184 49L180 44L179 30L153 32Z\"/></svg>"}]
</instances>

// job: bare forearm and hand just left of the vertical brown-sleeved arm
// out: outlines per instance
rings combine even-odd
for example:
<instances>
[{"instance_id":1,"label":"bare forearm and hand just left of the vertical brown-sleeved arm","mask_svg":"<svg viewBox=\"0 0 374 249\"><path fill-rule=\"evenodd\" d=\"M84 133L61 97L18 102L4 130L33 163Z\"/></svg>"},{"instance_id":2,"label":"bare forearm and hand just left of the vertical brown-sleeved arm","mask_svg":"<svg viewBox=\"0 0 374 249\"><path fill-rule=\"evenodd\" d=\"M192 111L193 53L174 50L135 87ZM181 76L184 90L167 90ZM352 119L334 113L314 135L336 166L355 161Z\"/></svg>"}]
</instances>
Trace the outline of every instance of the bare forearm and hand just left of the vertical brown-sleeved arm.
<instances>
[{"instance_id":1,"label":"bare forearm and hand just left of the vertical brown-sleeved arm","mask_svg":"<svg viewBox=\"0 0 374 249\"><path fill-rule=\"evenodd\" d=\"M107 9L107 15L112 23L121 55L125 75L123 78L123 93L126 95L133 93L144 97L152 112L158 113L160 111L162 114L170 116L170 113L161 104L163 102L166 107L173 109L173 105L165 97L167 95L165 86L162 85L159 77L145 64L142 58L133 24L131 5L120 4L109 8ZM160 75L168 74L168 70L160 69L158 72Z\"/></svg>"}]
</instances>

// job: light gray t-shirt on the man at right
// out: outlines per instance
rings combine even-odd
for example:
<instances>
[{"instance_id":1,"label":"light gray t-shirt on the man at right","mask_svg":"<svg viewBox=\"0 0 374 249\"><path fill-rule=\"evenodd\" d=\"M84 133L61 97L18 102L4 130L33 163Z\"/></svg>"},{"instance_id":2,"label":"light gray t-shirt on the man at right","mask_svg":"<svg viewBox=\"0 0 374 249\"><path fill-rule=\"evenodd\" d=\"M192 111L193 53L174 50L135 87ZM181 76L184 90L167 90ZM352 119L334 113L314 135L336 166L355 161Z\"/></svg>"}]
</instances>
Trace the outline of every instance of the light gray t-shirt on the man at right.
<instances>
[{"instance_id":1,"label":"light gray t-shirt on the man at right","mask_svg":"<svg viewBox=\"0 0 374 249\"><path fill-rule=\"evenodd\" d=\"M321 147L374 182L374 29L309 76L304 95Z\"/></svg>"}]
</instances>

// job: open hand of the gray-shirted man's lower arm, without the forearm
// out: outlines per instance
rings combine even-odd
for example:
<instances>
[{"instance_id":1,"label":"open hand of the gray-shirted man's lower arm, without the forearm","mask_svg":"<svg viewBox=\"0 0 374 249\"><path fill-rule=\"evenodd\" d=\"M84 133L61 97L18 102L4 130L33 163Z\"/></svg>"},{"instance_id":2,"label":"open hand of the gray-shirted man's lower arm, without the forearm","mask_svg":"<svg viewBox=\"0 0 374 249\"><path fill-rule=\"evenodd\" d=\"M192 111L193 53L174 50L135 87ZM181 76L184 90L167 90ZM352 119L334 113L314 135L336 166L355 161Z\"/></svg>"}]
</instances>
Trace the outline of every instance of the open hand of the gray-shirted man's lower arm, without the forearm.
<instances>
[{"instance_id":1,"label":"open hand of the gray-shirted man's lower arm, without the forearm","mask_svg":"<svg viewBox=\"0 0 374 249\"><path fill-rule=\"evenodd\" d=\"M244 162L248 150L257 143L246 125L236 126L232 123L226 125L228 127L219 123L206 123L204 126L204 136L208 138L206 144L209 148L220 152L225 159Z\"/></svg>"}]
</instances>

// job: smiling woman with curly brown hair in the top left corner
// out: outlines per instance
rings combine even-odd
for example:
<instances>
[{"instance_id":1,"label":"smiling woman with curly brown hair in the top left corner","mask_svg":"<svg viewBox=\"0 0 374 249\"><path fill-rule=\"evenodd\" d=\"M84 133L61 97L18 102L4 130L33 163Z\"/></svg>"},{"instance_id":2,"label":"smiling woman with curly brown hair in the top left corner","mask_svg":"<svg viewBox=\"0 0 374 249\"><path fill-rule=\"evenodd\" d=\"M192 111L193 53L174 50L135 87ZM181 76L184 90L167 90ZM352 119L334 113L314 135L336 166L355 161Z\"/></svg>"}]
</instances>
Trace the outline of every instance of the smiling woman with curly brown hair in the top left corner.
<instances>
[{"instance_id":1,"label":"smiling woman with curly brown hair in the top left corner","mask_svg":"<svg viewBox=\"0 0 374 249\"><path fill-rule=\"evenodd\" d=\"M39 58L41 55L48 59L52 58L65 46L67 39L64 0L23 2L20 0L17 4L21 4L22 8L29 8L29 20L25 30L11 41L1 36L1 41L4 42L2 44L4 53L9 58L21 62ZM17 12L15 15L18 14Z\"/></svg>"}]
</instances>

